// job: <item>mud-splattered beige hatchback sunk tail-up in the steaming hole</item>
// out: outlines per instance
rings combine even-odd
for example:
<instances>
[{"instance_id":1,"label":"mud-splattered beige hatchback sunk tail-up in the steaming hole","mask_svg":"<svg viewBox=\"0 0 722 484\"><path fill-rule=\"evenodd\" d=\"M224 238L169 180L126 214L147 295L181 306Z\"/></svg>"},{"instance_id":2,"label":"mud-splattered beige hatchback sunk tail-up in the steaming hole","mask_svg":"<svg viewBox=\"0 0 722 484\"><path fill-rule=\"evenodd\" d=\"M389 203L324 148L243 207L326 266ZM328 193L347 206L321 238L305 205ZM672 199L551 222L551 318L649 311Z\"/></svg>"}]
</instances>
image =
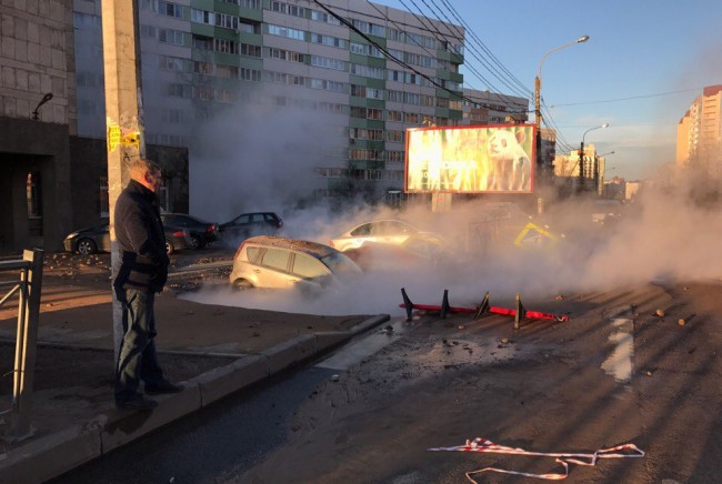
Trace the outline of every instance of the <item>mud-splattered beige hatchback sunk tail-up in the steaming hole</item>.
<instances>
[{"instance_id":1,"label":"mud-splattered beige hatchback sunk tail-up in the steaming hole","mask_svg":"<svg viewBox=\"0 0 722 484\"><path fill-rule=\"evenodd\" d=\"M260 235L243 241L229 282L239 289L298 288L307 294L343 284L361 269L342 252L318 242Z\"/></svg>"}]
</instances>

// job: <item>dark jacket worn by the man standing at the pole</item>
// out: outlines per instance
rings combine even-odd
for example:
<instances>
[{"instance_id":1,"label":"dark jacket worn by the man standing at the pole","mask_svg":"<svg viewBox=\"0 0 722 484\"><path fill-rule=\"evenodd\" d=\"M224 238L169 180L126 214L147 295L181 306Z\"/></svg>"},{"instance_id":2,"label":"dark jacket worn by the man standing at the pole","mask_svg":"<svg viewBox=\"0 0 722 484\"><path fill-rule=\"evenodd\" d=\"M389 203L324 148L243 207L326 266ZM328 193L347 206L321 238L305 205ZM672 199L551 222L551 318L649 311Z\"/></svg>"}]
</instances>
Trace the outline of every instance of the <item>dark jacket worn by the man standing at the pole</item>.
<instances>
[{"instance_id":1,"label":"dark jacket worn by the man standing at the pole","mask_svg":"<svg viewBox=\"0 0 722 484\"><path fill-rule=\"evenodd\" d=\"M113 286L161 292L170 259L156 193L131 180L116 202L116 239L121 264Z\"/></svg>"}]
</instances>

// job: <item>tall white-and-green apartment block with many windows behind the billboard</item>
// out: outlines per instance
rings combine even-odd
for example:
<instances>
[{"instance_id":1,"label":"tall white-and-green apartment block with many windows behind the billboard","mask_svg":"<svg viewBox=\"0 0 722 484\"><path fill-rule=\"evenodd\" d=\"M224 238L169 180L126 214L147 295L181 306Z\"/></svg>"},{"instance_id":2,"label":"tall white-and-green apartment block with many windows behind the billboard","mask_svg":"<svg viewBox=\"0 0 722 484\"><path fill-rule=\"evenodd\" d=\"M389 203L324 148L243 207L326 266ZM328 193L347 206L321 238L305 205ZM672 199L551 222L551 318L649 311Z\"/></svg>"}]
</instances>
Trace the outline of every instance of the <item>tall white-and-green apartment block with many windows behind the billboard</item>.
<instances>
[{"instance_id":1,"label":"tall white-and-green apartment block with many windows behind the billboard","mask_svg":"<svg viewBox=\"0 0 722 484\"><path fill-rule=\"evenodd\" d=\"M79 36L98 22L86 16L93 16L89 6L97 16L99 3L76 0ZM140 0L139 9L146 140L190 148L191 206L219 159L247 167L227 178L242 184L249 165L273 164L264 155L281 148L307 154L295 158L312 174L309 195L379 198L403 186L407 128L462 120L462 27L365 0ZM82 58L90 61L83 79L93 85L79 81L79 131L102 135L102 97L94 91L102 60L97 52ZM279 112L303 118L314 147L303 145L308 133L292 139L293 127L279 128L291 122ZM219 143L242 143L247 129L263 123L288 139L269 141L265 154L258 145L219 153ZM220 124L230 134L209 154L199 137Z\"/></svg>"}]
</instances>

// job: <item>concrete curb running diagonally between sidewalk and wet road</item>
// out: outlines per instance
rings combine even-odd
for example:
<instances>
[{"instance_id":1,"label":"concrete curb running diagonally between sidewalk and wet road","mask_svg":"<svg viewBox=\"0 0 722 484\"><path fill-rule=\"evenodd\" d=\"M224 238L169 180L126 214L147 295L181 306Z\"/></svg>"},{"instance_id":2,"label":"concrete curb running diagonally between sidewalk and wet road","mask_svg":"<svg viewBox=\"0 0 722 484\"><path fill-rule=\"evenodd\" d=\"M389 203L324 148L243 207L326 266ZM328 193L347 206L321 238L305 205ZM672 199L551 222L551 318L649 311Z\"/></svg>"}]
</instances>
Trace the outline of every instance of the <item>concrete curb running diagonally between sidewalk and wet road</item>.
<instances>
[{"instance_id":1,"label":"concrete curb running diagonally between sidewalk and wet road","mask_svg":"<svg viewBox=\"0 0 722 484\"><path fill-rule=\"evenodd\" d=\"M182 392L156 396L152 412L112 411L0 454L0 483L40 483L57 477L149 432L195 412L278 372L302 363L385 321L370 317L348 331L297 336L257 355L240 357L185 383Z\"/></svg>"}]
</instances>

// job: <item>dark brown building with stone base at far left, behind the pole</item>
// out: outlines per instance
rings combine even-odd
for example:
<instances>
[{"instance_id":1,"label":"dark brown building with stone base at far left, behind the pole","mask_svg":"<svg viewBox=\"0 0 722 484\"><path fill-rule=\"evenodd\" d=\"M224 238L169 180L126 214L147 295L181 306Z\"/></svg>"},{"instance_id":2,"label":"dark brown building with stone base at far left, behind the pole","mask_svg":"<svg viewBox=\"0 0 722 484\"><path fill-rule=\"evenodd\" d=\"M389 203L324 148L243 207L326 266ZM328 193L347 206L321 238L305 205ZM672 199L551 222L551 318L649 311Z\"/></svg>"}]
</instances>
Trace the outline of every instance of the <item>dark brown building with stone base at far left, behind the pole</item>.
<instances>
[{"instance_id":1,"label":"dark brown building with stone base at far left, behind the pole","mask_svg":"<svg viewBox=\"0 0 722 484\"><path fill-rule=\"evenodd\" d=\"M0 253L60 250L72 230L108 222L106 141L78 130L74 17L69 0L0 6ZM163 167L168 184L188 184L187 150L148 150L177 168ZM166 206L187 210L187 190L178 196Z\"/></svg>"}]
</instances>

